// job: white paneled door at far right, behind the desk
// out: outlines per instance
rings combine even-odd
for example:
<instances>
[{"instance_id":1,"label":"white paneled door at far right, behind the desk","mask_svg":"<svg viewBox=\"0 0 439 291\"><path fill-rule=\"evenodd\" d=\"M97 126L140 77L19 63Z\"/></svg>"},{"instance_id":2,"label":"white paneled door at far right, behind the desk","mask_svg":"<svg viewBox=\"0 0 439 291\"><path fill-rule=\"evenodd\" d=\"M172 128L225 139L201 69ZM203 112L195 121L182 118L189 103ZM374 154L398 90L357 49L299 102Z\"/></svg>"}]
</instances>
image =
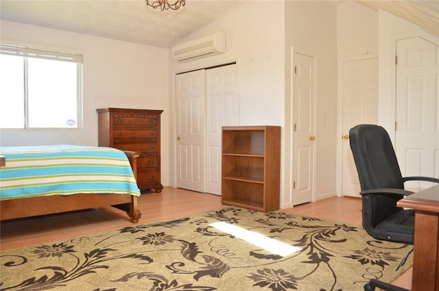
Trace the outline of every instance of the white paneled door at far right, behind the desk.
<instances>
[{"instance_id":1,"label":"white paneled door at far right, behind the desk","mask_svg":"<svg viewBox=\"0 0 439 291\"><path fill-rule=\"evenodd\" d=\"M403 176L439 177L439 47L420 37L396 42L395 150ZM432 186L405 183L410 190Z\"/></svg>"}]
</instances>

